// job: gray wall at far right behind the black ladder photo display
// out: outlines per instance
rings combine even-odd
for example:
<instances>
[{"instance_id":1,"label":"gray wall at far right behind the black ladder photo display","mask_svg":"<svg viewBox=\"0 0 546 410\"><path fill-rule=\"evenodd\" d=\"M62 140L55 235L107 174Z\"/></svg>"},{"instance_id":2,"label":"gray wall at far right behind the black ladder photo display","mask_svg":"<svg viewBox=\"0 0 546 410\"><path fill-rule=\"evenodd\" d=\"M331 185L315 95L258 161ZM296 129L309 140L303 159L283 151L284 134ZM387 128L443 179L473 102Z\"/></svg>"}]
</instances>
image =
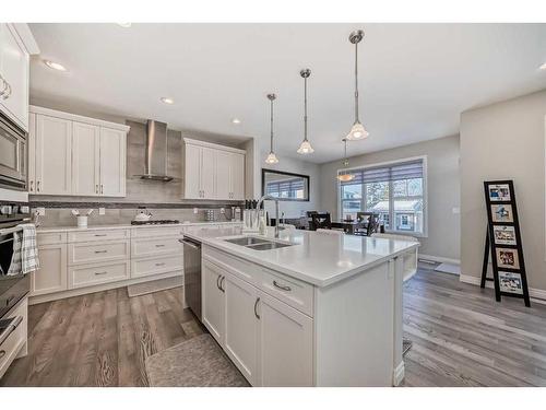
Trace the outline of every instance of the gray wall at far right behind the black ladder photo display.
<instances>
[{"instance_id":1,"label":"gray wall at far right behind the black ladder photo display","mask_svg":"<svg viewBox=\"0 0 546 410\"><path fill-rule=\"evenodd\" d=\"M513 179L529 285L546 290L545 115L546 90L461 115L462 274L482 271L483 181Z\"/></svg>"}]
</instances>

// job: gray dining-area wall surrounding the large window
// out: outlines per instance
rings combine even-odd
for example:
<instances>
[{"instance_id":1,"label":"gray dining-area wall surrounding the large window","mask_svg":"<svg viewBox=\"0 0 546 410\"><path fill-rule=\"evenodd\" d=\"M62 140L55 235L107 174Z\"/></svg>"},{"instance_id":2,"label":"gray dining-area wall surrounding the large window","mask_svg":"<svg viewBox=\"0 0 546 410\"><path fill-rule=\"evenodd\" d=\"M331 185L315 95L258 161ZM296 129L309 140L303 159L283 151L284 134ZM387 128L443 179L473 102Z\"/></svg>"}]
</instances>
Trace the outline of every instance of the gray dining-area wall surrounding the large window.
<instances>
[{"instance_id":1,"label":"gray dining-area wall surrounding the large window","mask_svg":"<svg viewBox=\"0 0 546 410\"><path fill-rule=\"evenodd\" d=\"M427 155L428 166L428 237L419 238L419 253L459 260L460 219L453 212L453 208L460 207L459 136L354 156L349 159L349 167L420 155ZM337 218L336 174L341 167L341 161L320 166L320 208L334 218Z\"/></svg>"}]
</instances>

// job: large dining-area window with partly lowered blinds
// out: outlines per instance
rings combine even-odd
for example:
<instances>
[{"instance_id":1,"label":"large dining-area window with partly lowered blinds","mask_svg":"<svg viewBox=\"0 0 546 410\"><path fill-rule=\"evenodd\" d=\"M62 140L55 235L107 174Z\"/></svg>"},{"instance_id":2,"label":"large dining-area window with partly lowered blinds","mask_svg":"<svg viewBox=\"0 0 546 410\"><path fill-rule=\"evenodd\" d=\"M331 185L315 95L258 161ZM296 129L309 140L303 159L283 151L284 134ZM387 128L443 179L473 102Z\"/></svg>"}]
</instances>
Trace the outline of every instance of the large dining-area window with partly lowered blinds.
<instances>
[{"instance_id":1,"label":"large dining-area window with partly lowered blinds","mask_svg":"<svg viewBox=\"0 0 546 410\"><path fill-rule=\"evenodd\" d=\"M340 216L373 212L387 231L425 234L426 159L352 169L340 181Z\"/></svg>"}]
</instances>

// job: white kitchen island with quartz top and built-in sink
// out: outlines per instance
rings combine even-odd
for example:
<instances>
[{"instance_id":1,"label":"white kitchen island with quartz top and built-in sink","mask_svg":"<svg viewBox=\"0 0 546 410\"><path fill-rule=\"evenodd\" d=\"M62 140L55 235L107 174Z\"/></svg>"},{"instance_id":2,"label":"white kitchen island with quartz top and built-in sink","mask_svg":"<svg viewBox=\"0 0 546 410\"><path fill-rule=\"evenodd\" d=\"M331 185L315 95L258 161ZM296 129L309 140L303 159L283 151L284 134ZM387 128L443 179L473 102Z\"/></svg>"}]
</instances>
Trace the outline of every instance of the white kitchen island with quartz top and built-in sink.
<instances>
[{"instance_id":1,"label":"white kitchen island with quartz top and built-in sink","mask_svg":"<svg viewBox=\"0 0 546 410\"><path fill-rule=\"evenodd\" d=\"M418 244L240 227L185 236L202 243L203 324L252 386L403 379L403 258Z\"/></svg>"}]
</instances>

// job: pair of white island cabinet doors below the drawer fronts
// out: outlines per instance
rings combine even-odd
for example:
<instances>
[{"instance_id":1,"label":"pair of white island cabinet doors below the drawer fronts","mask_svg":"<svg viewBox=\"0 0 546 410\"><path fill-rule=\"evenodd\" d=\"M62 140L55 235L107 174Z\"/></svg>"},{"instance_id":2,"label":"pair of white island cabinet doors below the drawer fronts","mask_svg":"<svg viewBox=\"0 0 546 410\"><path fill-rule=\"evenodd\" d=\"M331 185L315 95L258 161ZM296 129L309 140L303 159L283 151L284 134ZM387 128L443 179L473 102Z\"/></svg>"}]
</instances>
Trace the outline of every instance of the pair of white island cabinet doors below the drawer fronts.
<instances>
[{"instance_id":1,"label":"pair of white island cabinet doors below the drawer fronts","mask_svg":"<svg viewBox=\"0 0 546 410\"><path fill-rule=\"evenodd\" d=\"M312 318L229 270L203 260L203 324L252 386L312 386Z\"/></svg>"}]
</instances>

